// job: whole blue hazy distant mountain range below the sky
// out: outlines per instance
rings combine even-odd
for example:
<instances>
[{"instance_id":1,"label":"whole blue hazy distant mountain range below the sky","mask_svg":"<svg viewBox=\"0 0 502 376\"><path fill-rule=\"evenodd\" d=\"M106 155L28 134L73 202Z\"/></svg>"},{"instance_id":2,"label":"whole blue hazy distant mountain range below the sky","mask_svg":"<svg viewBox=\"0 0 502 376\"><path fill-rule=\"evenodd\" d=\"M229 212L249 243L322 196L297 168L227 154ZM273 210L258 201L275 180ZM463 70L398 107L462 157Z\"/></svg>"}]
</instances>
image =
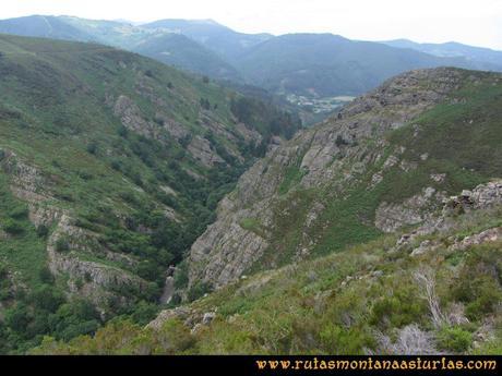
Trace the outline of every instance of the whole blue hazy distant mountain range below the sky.
<instances>
[{"instance_id":1,"label":"whole blue hazy distant mountain range below the sky","mask_svg":"<svg viewBox=\"0 0 502 376\"><path fill-rule=\"evenodd\" d=\"M360 95L393 75L421 68L502 71L502 52L456 43L242 34L212 20L133 25L127 21L33 15L0 21L0 33L100 43L216 80L310 98Z\"/></svg>"}]
</instances>

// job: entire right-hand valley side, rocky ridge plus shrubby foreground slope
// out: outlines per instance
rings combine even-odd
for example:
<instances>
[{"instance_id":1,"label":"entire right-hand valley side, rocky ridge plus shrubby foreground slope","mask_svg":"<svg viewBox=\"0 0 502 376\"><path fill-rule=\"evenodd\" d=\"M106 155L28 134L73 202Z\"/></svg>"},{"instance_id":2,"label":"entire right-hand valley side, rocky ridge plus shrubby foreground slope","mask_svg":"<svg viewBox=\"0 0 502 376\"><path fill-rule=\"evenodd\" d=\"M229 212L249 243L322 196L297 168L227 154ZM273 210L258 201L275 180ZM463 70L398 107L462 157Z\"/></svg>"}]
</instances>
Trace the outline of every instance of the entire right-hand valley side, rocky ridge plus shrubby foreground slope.
<instances>
[{"instance_id":1,"label":"entire right-hand valley side, rocky ridge plus shrubby foreground slope","mask_svg":"<svg viewBox=\"0 0 502 376\"><path fill-rule=\"evenodd\" d=\"M181 305L34 352L500 354L501 111L501 74L387 81L239 179Z\"/></svg>"}]
</instances>

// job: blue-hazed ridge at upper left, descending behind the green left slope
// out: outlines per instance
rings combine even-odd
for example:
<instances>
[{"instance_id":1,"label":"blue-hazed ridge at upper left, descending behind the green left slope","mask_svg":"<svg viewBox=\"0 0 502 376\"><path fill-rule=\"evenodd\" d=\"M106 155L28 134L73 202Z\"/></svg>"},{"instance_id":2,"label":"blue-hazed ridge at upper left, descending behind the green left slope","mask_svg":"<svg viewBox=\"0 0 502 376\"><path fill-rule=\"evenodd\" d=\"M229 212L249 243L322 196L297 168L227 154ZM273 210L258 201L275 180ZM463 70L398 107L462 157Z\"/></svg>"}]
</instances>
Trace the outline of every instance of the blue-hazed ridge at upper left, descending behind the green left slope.
<instances>
[{"instance_id":1,"label":"blue-hazed ridge at upper left, descending behind the green left slope","mask_svg":"<svg viewBox=\"0 0 502 376\"><path fill-rule=\"evenodd\" d=\"M34 15L0 21L0 33L94 41L139 52L215 78L241 80L237 70L211 49L182 34L165 29L151 29L117 21Z\"/></svg>"}]
</instances>

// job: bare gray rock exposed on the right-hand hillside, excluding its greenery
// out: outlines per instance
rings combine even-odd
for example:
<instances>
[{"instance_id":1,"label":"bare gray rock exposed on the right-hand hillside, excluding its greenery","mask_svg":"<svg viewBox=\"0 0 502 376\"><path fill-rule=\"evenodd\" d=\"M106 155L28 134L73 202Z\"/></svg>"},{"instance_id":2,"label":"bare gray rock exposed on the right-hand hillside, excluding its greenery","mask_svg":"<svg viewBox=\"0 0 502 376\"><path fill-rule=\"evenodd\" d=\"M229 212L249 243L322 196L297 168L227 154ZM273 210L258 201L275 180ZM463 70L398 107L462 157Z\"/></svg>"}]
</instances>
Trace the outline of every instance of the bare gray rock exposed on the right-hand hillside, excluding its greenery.
<instances>
[{"instance_id":1,"label":"bare gray rock exposed on the right-hand hillside, excluding its greenery","mask_svg":"<svg viewBox=\"0 0 502 376\"><path fill-rule=\"evenodd\" d=\"M300 131L292 140L270 148L266 157L249 169L237 189L222 201L216 222L192 245L190 286L205 281L220 287L235 281L268 252L267 229L274 225L273 209L280 202L278 187L285 171L299 170L299 187L326 187L334 196L343 196L347 187L382 158L387 145L382 136L443 100L458 87L461 78L457 70L449 69L403 74L344 107L339 117ZM423 85L423 82L430 84ZM416 132L419 132L418 126ZM369 138L374 142L366 143ZM378 184L380 177L393 166L401 165L408 171L416 168L415 162L402 161L404 151L403 147L394 150L383 162L383 170L374 174L373 184ZM441 193L429 190L402 204L384 204L376 213L376 226L394 231L404 225L420 223L429 216L426 207L433 203L440 207L442 198ZM314 223L323 210L310 208L304 229ZM292 216L294 210L285 215ZM264 231L242 229L239 223L244 218L256 218ZM314 242L307 231L302 233L295 250L297 258L308 256ZM273 263L268 265L274 266Z\"/></svg>"}]
</instances>

